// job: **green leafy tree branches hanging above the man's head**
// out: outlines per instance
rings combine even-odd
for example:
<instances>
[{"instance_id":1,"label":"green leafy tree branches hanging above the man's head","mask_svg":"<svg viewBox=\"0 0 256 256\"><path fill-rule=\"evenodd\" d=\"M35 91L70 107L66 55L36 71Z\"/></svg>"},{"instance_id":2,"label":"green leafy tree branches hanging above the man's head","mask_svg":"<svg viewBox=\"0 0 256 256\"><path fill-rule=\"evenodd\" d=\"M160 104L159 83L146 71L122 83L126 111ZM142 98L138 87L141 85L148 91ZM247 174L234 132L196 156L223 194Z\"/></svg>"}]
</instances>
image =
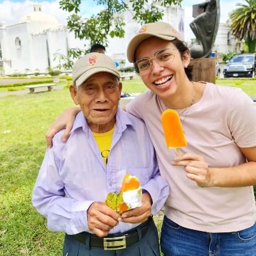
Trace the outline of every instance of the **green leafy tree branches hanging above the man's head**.
<instances>
[{"instance_id":1,"label":"green leafy tree branches hanging above the man's head","mask_svg":"<svg viewBox=\"0 0 256 256\"><path fill-rule=\"evenodd\" d=\"M108 35L123 38L125 35L124 12L130 12L132 19L140 24L161 20L164 13L158 6L170 6L179 4L182 0L93 0L102 6L102 11L88 19L81 17L79 6L81 0L61 0L60 8L70 12L67 19L69 31L73 31L76 38L89 40L90 44L102 44L108 46ZM69 49L67 56L57 54L65 69L71 68L74 58L87 53L90 45L84 45L86 49Z\"/></svg>"}]
</instances>

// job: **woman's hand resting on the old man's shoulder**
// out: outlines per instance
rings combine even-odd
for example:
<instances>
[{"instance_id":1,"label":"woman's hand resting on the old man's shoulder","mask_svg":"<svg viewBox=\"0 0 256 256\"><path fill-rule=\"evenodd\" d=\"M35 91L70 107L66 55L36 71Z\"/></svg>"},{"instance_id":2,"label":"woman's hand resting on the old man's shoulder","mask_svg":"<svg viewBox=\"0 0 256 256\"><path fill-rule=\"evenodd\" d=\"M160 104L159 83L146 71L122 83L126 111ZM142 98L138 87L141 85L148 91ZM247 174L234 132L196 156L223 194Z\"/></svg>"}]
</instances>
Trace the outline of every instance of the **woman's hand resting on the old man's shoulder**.
<instances>
[{"instance_id":1,"label":"woman's hand resting on the old man's shoulder","mask_svg":"<svg viewBox=\"0 0 256 256\"><path fill-rule=\"evenodd\" d=\"M56 118L56 120L51 124L51 127L45 134L48 147L52 147L52 138L61 129L65 129L65 132L63 133L61 139L63 142L67 141L69 137L69 132L73 127L74 120L79 111L81 111L80 108L68 108L65 111L63 111L61 115L58 116L58 118Z\"/></svg>"}]
</instances>

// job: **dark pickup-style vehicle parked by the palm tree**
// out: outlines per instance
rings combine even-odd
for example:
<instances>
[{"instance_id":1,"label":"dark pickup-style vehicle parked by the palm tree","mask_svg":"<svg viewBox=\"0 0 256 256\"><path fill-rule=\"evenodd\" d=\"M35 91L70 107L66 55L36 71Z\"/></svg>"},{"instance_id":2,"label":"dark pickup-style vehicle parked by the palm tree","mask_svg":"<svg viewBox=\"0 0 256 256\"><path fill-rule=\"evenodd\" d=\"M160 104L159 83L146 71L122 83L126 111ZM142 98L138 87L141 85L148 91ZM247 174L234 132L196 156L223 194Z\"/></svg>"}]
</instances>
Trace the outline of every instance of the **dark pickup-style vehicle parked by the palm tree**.
<instances>
[{"instance_id":1,"label":"dark pickup-style vehicle parked by the palm tree","mask_svg":"<svg viewBox=\"0 0 256 256\"><path fill-rule=\"evenodd\" d=\"M256 54L235 55L223 69L224 77L254 77L256 70Z\"/></svg>"}]
</instances>

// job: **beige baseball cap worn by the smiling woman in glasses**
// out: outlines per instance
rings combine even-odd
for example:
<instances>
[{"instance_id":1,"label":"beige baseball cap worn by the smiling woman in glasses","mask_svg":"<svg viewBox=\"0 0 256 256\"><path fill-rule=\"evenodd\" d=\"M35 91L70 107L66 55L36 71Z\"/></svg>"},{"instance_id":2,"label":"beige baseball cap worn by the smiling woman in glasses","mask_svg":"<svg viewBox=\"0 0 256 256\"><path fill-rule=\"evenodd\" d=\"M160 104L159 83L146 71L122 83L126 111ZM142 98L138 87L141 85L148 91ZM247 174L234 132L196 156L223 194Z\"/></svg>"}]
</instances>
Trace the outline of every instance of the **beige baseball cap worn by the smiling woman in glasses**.
<instances>
[{"instance_id":1,"label":"beige baseball cap worn by the smiling woman in glasses","mask_svg":"<svg viewBox=\"0 0 256 256\"><path fill-rule=\"evenodd\" d=\"M145 39L156 36L164 40L172 41L178 39L183 41L180 34L170 24L166 22L153 22L148 23L140 28L138 33L131 39L127 47L127 59L134 62L134 53L138 45Z\"/></svg>"}]
</instances>

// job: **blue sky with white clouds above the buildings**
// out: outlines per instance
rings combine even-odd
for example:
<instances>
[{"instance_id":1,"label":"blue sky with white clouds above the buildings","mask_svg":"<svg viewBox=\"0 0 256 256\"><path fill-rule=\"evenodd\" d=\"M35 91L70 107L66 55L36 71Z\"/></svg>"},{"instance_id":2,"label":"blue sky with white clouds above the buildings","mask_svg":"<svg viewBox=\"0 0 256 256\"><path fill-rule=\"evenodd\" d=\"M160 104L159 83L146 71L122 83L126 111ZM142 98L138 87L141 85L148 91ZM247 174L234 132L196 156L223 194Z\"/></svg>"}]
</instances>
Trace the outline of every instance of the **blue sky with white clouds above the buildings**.
<instances>
[{"instance_id":1,"label":"blue sky with white clouds above the buildings","mask_svg":"<svg viewBox=\"0 0 256 256\"><path fill-rule=\"evenodd\" d=\"M192 5L203 3L204 0L183 0L182 8L185 12L185 41L189 41L191 38L195 38L193 32L189 27L189 23L193 20L192 17ZM60 9L59 1L31 1L31 0L15 0L15 1L3 1L0 0L0 22L6 22L6 25L12 25L19 22L19 19L33 11L32 4L40 3L42 4L42 11L54 15L58 22L61 24L66 24L66 19L68 17L68 12ZM228 13L236 9L237 3L245 3L244 0L220 0L220 22L226 22L228 20ZM95 5L95 1L86 0L82 1L81 4L81 15L83 17L90 17L92 14L99 12L100 6Z\"/></svg>"}]
</instances>

